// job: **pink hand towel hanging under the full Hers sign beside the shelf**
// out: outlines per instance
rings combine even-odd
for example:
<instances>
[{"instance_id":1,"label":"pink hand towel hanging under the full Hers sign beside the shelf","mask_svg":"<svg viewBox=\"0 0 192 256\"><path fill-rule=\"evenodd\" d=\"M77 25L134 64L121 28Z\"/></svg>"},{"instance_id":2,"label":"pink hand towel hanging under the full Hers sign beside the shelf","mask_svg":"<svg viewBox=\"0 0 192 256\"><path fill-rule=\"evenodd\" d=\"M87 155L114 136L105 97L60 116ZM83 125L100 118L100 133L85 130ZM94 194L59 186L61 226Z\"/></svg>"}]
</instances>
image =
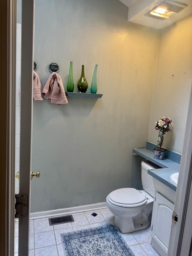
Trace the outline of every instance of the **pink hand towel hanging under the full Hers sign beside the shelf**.
<instances>
[{"instance_id":1,"label":"pink hand towel hanging under the full Hers sign beside the shelf","mask_svg":"<svg viewBox=\"0 0 192 256\"><path fill-rule=\"evenodd\" d=\"M55 72L50 75L42 93L51 103L57 105L68 103L61 77Z\"/></svg>"}]
</instances>

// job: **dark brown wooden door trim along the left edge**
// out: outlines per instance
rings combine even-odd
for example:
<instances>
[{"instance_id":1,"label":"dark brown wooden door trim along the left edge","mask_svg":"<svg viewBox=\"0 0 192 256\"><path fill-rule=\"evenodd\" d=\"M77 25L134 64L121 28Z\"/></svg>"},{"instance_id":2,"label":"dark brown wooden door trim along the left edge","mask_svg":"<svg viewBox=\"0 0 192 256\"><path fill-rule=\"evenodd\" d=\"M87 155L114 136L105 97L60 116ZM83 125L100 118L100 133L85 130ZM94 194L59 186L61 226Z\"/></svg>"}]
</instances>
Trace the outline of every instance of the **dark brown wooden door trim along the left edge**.
<instances>
[{"instance_id":1,"label":"dark brown wooden door trim along the left edge","mask_svg":"<svg viewBox=\"0 0 192 256\"><path fill-rule=\"evenodd\" d=\"M0 1L0 255L14 255L16 0Z\"/></svg>"}]
</instances>

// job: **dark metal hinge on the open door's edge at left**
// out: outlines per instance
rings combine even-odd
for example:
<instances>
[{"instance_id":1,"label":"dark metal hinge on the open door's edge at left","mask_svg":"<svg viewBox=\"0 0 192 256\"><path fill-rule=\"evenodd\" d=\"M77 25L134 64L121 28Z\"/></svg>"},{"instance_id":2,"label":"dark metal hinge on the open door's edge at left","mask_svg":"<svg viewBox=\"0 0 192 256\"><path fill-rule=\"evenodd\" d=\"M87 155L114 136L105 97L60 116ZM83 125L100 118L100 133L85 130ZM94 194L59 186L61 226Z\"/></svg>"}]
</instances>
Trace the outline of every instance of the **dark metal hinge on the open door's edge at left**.
<instances>
[{"instance_id":1,"label":"dark metal hinge on the open door's edge at left","mask_svg":"<svg viewBox=\"0 0 192 256\"><path fill-rule=\"evenodd\" d=\"M24 218L28 211L28 196L26 194L15 195L15 218Z\"/></svg>"}]
</instances>

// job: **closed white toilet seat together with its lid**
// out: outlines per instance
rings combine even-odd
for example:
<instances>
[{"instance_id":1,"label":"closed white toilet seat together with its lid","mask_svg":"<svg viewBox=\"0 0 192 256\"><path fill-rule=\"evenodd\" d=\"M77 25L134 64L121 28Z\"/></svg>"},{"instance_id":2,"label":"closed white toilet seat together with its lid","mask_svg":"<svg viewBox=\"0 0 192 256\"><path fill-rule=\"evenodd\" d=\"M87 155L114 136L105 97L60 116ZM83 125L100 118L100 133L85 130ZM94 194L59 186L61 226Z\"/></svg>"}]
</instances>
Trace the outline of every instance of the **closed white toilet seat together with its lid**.
<instances>
[{"instance_id":1,"label":"closed white toilet seat together with its lid","mask_svg":"<svg viewBox=\"0 0 192 256\"><path fill-rule=\"evenodd\" d=\"M135 188L116 189L107 199L110 203L121 207L137 207L147 203L146 197Z\"/></svg>"}]
</instances>

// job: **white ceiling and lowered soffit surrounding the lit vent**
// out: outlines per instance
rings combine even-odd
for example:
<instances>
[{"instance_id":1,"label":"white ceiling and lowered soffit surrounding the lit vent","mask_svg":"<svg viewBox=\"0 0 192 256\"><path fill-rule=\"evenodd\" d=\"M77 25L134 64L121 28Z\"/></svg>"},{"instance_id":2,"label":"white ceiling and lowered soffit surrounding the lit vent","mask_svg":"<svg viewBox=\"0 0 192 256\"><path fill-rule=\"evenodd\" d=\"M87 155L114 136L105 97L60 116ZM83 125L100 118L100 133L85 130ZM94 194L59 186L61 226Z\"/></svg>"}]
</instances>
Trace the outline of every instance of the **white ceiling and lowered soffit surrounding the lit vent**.
<instances>
[{"instance_id":1,"label":"white ceiling and lowered soffit surrounding the lit vent","mask_svg":"<svg viewBox=\"0 0 192 256\"><path fill-rule=\"evenodd\" d=\"M157 5L164 2L164 0L119 0L126 5L128 10L128 21L133 23L142 24L145 26L153 27L156 29L163 29L178 20L192 14L192 1L191 0L178 0L188 6L180 13L175 13L166 20L158 20L155 18L144 16L146 13L151 11Z\"/></svg>"}]
</instances>

